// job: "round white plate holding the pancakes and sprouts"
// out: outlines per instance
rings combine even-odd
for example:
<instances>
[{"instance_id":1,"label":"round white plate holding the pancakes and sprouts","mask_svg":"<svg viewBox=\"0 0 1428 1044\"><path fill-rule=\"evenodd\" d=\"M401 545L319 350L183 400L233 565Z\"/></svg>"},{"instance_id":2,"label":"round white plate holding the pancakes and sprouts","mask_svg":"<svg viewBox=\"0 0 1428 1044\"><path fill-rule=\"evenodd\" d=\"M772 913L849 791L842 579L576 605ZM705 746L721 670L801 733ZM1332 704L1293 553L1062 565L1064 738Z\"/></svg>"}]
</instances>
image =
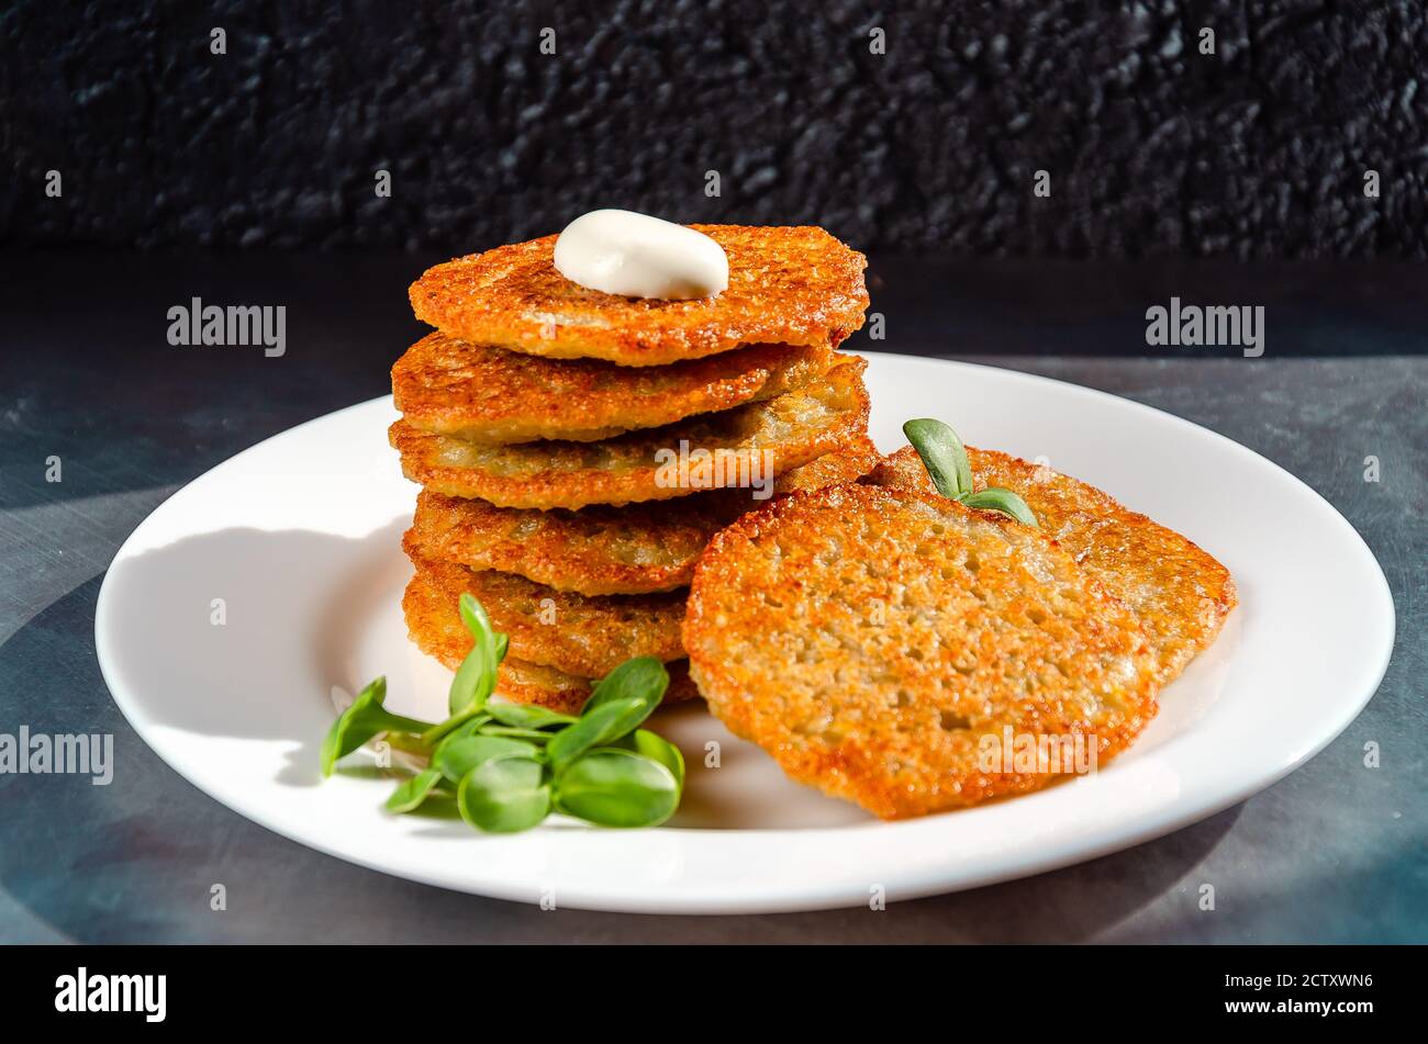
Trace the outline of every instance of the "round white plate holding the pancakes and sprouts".
<instances>
[{"instance_id":1,"label":"round white plate holding the pancakes and sprouts","mask_svg":"<svg viewBox=\"0 0 1428 1044\"><path fill-rule=\"evenodd\" d=\"M690 763L684 807L657 830L553 822L488 837L393 817L391 783L360 756L320 782L334 686L386 673L390 707L444 716L450 675L410 646L398 608L416 486L387 446L390 399L271 438L150 515L100 592L104 680L178 773L297 841L486 896L658 913L858 906L878 889L891 901L1124 849L1287 774L1374 693L1394 638L1388 585L1348 522L1278 466L1168 414L1007 369L873 355L868 388L883 449L904 442L904 419L945 418L968 442L1045 456L1110 491L1234 573L1241 605L1220 640L1100 773L878 823L788 782L690 707L655 720ZM705 766L711 742L720 767Z\"/></svg>"}]
</instances>

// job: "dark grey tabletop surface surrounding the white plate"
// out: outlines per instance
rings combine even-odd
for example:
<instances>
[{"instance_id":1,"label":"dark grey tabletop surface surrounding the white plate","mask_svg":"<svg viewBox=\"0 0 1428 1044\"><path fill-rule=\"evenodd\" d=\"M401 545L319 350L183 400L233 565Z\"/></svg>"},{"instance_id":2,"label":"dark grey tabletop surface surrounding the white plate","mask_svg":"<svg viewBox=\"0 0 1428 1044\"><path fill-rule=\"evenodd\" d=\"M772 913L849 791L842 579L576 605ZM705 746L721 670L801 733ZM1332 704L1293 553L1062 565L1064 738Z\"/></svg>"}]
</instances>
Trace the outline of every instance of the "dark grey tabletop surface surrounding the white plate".
<instances>
[{"instance_id":1,"label":"dark grey tabletop surface surrounding the white plate","mask_svg":"<svg viewBox=\"0 0 1428 1044\"><path fill-rule=\"evenodd\" d=\"M1374 549L1398 610L1378 695L1307 766L1210 820L884 913L633 917L541 913L386 877L198 793L127 727L100 679L103 572L180 483L381 394L387 364L417 332L401 288L418 268L0 258L0 732L113 732L117 756L109 787L0 776L0 941L1428 941L1428 357L1405 352L1428 305L1384 292L1409 278L1401 270L874 264L887 348L1040 372L1207 425L1304 478ZM1148 354L1140 295L1161 300L1171 285L1294 304L1271 312L1264 359ZM287 301L288 354L170 348L164 308L191 294ZM57 485L43 479L51 454L64 461ZM1379 483L1362 481L1369 454ZM1379 769L1362 764L1371 740ZM208 909L213 883L227 886L226 913ZM1202 883L1217 889L1214 913L1197 907Z\"/></svg>"}]
</instances>

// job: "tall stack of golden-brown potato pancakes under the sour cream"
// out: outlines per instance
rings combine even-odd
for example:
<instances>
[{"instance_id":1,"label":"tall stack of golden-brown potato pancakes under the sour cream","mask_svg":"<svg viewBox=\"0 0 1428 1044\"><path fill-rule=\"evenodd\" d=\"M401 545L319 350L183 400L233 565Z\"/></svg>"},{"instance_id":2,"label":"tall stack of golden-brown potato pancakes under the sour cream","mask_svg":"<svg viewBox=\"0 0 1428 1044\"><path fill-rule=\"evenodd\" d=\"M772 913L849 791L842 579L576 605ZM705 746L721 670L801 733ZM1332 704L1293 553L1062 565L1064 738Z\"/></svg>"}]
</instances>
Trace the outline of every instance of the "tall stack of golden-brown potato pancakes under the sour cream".
<instances>
[{"instance_id":1,"label":"tall stack of golden-brown potato pancakes under the sour cream","mask_svg":"<svg viewBox=\"0 0 1428 1044\"><path fill-rule=\"evenodd\" d=\"M821 228L693 225L728 288L690 301L587 290L548 235L427 271L436 327L391 371L390 431L423 491L404 548L413 640L456 667L471 592L510 638L497 692L577 709L633 656L697 695L680 626L713 535L770 495L848 482L877 454L865 260Z\"/></svg>"}]
</instances>

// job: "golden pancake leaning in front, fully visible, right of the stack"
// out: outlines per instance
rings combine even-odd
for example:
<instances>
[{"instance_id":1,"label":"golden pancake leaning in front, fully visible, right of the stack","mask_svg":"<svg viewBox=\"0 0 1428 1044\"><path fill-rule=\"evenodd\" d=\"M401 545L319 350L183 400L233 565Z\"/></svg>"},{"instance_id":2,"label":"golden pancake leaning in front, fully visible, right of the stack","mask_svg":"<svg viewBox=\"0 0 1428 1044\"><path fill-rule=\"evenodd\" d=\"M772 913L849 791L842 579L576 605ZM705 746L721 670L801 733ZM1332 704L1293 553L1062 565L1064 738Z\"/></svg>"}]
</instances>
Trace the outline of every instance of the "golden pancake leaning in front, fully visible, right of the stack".
<instances>
[{"instance_id":1,"label":"golden pancake leaning in front, fully visible, right of the stack","mask_svg":"<svg viewBox=\"0 0 1428 1044\"><path fill-rule=\"evenodd\" d=\"M991 770L1004 727L1094 736L1104 763L1155 713L1140 625L1065 549L910 491L827 486L740 518L700 561L684 642L734 733L884 819L1055 779Z\"/></svg>"}]
</instances>

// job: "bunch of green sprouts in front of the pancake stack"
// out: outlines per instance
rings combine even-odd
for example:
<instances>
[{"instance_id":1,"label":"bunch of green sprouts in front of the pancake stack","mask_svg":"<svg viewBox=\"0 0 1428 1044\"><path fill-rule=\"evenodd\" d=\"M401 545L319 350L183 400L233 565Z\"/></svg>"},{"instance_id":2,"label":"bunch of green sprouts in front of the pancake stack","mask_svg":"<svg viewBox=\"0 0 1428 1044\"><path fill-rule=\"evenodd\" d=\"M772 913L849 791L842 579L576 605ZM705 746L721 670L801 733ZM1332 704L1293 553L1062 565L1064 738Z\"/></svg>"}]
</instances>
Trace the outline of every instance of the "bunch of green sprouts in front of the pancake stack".
<instances>
[{"instance_id":1,"label":"bunch of green sprouts in front of the pancake stack","mask_svg":"<svg viewBox=\"0 0 1428 1044\"><path fill-rule=\"evenodd\" d=\"M471 652L451 679L451 716L418 722L383 709L386 679L363 689L323 743L323 774L338 757L387 733L427 764L396 789L387 810L407 813L456 797L461 819L487 833L527 830L553 810L607 827L657 826L680 807L684 756L640 725L660 706L670 673L653 656L621 663L601 679L580 715L491 703L506 635L471 595L461 596Z\"/></svg>"}]
</instances>

